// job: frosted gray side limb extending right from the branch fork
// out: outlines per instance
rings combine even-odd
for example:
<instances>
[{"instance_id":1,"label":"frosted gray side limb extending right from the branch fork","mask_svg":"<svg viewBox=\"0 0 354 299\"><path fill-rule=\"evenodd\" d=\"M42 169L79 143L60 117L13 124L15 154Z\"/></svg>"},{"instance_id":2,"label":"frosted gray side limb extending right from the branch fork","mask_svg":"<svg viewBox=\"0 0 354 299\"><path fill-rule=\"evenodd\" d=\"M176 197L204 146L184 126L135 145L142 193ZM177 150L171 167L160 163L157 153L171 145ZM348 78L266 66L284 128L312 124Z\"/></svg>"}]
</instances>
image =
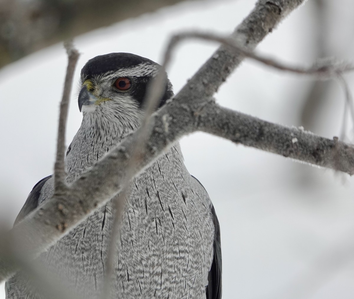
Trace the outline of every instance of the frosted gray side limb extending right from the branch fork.
<instances>
[{"instance_id":1,"label":"frosted gray side limb extending right from the branch fork","mask_svg":"<svg viewBox=\"0 0 354 299\"><path fill-rule=\"evenodd\" d=\"M302 128L263 121L213 102L193 113L198 116L195 121L200 131L298 161L354 174L354 147L340 142L338 137L326 139Z\"/></svg>"}]
</instances>

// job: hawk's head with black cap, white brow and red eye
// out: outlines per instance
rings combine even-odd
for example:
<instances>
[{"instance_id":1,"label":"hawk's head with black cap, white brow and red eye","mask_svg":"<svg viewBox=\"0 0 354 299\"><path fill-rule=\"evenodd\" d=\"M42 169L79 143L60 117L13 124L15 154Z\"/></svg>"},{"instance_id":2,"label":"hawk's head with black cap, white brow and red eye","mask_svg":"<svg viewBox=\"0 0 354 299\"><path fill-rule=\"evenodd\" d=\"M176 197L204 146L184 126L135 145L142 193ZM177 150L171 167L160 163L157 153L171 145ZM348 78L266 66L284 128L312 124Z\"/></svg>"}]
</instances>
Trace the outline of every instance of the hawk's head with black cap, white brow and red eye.
<instances>
[{"instance_id":1,"label":"hawk's head with black cap, white brow and red eye","mask_svg":"<svg viewBox=\"0 0 354 299\"><path fill-rule=\"evenodd\" d=\"M84 115L140 115L148 85L159 68L158 63L131 53L110 53L90 59L81 70L80 111ZM159 107L173 96L167 75L166 82Z\"/></svg>"}]
</instances>

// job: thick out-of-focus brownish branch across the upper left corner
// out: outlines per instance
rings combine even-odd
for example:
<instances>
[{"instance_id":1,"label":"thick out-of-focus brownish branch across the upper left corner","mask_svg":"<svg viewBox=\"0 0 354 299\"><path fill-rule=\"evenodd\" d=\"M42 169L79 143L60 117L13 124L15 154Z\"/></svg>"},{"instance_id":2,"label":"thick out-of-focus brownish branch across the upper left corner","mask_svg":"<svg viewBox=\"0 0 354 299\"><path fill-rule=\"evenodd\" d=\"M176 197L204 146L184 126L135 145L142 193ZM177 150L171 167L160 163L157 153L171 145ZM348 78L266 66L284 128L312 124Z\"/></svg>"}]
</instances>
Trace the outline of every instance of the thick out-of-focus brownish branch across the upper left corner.
<instances>
[{"instance_id":1,"label":"thick out-of-focus brownish branch across the upper left corner","mask_svg":"<svg viewBox=\"0 0 354 299\"><path fill-rule=\"evenodd\" d=\"M32 52L182 0L1 0L0 68Z\"/></svg>"}]
</instances>

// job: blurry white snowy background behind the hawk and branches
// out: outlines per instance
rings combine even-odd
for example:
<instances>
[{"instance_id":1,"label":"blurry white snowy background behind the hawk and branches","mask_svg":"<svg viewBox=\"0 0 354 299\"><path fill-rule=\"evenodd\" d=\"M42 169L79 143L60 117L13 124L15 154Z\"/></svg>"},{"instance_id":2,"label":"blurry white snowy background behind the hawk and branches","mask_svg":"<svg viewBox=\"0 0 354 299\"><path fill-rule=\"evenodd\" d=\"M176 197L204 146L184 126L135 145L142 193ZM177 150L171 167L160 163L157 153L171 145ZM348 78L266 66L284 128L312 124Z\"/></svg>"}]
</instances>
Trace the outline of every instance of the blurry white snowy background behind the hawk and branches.
<instances>
[{"instance_id":1,"label":"blurry white snowy background behind the hawk and branches","mask_svg":"<svg viewBox=\"0 0 354 299\"><path fill-rule=\"evenodd\" d=\"M185 2L75 39L84 63L109 52L161 62L173 32L230 33L255 1ZM293 12L257 48L281 61L310 65L318 55L315 1ZM326 51L353 57L353 4L325 1ZM168 70L175 91L217 48L184 43ZM0 219L11 227L28 193L53 171L58 105L67 57L61 44L0 70ZM353 86L353 76L346 76ZM313 113L311 129L341 132L344 96L336 83ZM312 81L246 60L220 88L218 103L287 126L300 126ZM67 144L80 126L74 89ZM353 135L348 130L348 140ZM204 133L181 140L185 164L208 191L222 234L223 298L354 298L353 178L246 148ZM5 298L4 284L0 298Z\"/></svg>"}]
</instances>

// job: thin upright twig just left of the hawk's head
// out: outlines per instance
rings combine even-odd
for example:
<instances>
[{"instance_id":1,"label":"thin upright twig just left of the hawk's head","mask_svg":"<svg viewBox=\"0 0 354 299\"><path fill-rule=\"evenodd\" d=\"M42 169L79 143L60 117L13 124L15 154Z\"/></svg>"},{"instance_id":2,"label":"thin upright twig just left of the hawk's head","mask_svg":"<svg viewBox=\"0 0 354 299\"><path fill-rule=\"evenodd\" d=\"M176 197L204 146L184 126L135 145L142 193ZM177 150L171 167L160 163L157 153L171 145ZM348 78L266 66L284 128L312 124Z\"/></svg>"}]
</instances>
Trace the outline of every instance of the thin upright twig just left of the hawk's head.
<instances>
[{"instance_id":1,"label":"thin upright twig just left of the hawk's head","mask_svg":"<svg viewBox=\"0 0 354 299\"><path fill-rule=\"evenodd\" d=\"M73 76L76 63L79 59L79 52L74 48L72 41L66 41L64 47L68 54L68 66L65 75L63 96L60 103L59 124L58 124L58 139L57 139L57 154L54 164L54 193L62 192L66 186L65 172L65 128L67 123L67 115L69 109L69 99L73 84Z\"/></svg>"}]
</instances>

